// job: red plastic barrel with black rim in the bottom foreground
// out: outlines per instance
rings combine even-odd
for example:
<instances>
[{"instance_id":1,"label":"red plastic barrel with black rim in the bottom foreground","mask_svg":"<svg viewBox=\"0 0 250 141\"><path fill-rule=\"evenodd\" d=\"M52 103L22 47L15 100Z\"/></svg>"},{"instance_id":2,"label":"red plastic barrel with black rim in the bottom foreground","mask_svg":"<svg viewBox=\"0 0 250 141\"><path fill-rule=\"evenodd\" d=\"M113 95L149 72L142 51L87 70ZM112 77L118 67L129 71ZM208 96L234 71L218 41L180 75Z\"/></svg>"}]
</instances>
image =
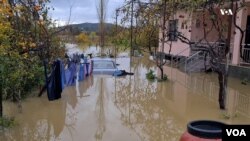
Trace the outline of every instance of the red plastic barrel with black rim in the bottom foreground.
<instances>
[{"instance_id":1,"label":"red plastic barrel with black rim in the bottom foreground","mask_svg":"<svg viewBox=\"0 0 250 141\"><path fill-rule=\"evenodd\" d=\"M210 120L192 121L180 141L221 141L224 123Z\"/></svg>"}]
</instances>

